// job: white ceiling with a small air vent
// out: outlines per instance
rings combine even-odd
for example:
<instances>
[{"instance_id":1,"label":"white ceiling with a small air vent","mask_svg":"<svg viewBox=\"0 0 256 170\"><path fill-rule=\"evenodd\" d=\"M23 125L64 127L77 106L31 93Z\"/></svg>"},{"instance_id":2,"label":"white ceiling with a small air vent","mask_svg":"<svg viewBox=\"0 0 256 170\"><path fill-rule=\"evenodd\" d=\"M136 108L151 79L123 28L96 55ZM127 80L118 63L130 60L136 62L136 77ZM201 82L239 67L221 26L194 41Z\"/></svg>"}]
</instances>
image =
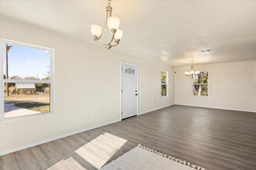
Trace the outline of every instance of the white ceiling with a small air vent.
<instances>
[{"instance_id":1,"label":"white ceiling with a small air vent","mask_svg":"<svg viewBox=\"0 0 256 170\"><path fill-rule=\"evenodd\" d=\"M96 44L106 1L0 1L0 14ZM256 59L256 1L112 1L123 29L111 50L172 66ZM104 40L110 32L105 32ZM109 34L108 34L109 33ZM201 49L211 49L208 54Z\"/></svg>"}]
</instances>

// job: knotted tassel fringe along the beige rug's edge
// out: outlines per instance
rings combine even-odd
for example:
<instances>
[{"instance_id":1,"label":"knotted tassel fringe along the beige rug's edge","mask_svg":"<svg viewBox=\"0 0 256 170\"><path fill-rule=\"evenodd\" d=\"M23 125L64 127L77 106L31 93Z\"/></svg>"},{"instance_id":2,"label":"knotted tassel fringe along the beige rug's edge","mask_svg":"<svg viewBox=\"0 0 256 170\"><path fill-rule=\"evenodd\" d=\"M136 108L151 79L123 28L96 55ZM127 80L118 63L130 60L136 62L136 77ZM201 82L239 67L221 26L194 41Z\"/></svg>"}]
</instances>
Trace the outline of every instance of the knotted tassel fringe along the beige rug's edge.
<instances>
[{"instance_id":1,"label":"knotted tassel fringe along the beige rug's edge","mask_svg":"<svg viewBox=\"0 0 256 170\"><path fill-rule=\"evenodd\" d=\"M207 170L203 167L200 167L199 165L194 165L194 164L191 164L190 162L186 162L185 160L181 160L181 159L177 159L173 156L168 156L166 154L163 154L161 152L158 152L156 150L153 150L152 148L149 148L149 147L146 147L146 146L143 146L141 144L138 144L139 147L143 148L144 150L147 150L147 151L150 151L150 152L154 152L155 154L157 155L160 155L160 156L163 156L164 158L167 158L167 159L170 159L170 160L173 160L177 163L180 163L180 164L183 164L183 165L187 165L188 167L190 168L193 168L193 169L197 169L197 170Z\"/></svg>"}]
</instances>

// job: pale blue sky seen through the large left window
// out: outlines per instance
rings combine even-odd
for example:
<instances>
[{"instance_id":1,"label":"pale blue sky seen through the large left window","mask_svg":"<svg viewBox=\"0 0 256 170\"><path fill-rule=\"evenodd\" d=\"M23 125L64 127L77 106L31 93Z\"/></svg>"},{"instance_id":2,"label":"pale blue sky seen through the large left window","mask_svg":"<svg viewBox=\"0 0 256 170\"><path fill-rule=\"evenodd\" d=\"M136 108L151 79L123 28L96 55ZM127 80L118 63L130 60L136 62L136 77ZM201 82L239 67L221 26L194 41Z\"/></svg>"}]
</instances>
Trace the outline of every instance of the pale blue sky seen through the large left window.
<instances>
[{"instance_id":1,"label":"pale blue sky seen through the large left window","mask_svg":"<svg viewBox=\"0 0 256 170\"><path fill-rule=\"evenodd\" d=\"M50 54L46 50L8 44L13 46L8 52L9 79L18 75L24 79L26 76L34 76L39 79L46 78L50 71ZM3 74L6 74L6 43L3 43Z\"/></svg>"}]
</instances>

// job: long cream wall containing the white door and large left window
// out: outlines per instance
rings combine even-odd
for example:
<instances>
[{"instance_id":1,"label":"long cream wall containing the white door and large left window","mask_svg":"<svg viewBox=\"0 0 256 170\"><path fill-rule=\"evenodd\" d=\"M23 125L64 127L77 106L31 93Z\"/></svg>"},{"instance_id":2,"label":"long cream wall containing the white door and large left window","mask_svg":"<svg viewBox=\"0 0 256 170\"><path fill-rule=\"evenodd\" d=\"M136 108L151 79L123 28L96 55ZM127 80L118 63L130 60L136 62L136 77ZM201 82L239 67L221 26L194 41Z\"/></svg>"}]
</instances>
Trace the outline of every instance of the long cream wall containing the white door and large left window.
<instances>
[{"instance_id":1,"label":"long cream wall containing the white door and large left window","mask_svg":"<svg viewBox=\"0 0 256 170\"><path fill-rule=\"evenodd\" d=\"M174 68L163 63L106 50L9 18L1 18L0 37L55 49L54 113L1 121L2 152L118 121L121 61L139 65L139 113L174 103ZM160 96L162 70L170 74L168 97Z\"/></svg>"}]
</instances>

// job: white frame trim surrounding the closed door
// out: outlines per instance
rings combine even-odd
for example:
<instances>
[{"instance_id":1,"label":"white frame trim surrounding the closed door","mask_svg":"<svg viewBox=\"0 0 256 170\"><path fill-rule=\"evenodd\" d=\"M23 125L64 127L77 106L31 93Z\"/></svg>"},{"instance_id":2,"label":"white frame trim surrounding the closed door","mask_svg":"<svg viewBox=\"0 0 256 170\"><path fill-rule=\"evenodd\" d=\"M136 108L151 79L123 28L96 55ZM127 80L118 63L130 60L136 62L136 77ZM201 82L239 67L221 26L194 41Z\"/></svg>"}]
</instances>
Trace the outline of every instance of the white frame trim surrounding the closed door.
<instances>
[{"instance_id":1,"label":"white frame trim surrounding the closed door","mask_svg":"<svg viewBox=\"0 0 256 170\"><path fill-rule=\"evenodd\" d=\"M135 63L130 63L130 62L125 62L125 61L121 61L120 62L120 120L122 121L122 64L127 64L127 65L132 65L135 66L137 68L137 116L139 113L139 65L135 64Z\"/></svg>"}]
</instances>

